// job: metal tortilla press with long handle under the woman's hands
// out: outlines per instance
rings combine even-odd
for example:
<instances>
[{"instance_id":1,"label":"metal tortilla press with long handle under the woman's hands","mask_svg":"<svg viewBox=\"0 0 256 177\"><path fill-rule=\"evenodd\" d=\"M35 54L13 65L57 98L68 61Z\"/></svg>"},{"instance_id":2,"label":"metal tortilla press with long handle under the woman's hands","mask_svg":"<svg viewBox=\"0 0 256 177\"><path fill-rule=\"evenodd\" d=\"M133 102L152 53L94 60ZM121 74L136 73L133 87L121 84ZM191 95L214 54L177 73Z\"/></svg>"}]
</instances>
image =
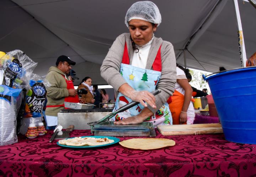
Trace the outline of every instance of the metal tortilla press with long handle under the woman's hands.
<instances>
[{"instance_id":1,"label":"metal tortilla press with long handle under the woman's hands","mask_svg":"<svg viewBox=\"0 0 256 177\"><path fill-rule=\"evenodd\" d=\"M157 89L151 93L153 95L157 95L160 92L161 91ZM108 114L101 120L89 122L88 125L91 126L91 133L94 133L94 136L156 136L152 122L142 122L141 124L123 125L114 124L114 121L110 121L110 119L117 113L132 108L137 104L139 104L139 102L133 101L117 109L115 112Z\"/></svg>"}]
</instances>

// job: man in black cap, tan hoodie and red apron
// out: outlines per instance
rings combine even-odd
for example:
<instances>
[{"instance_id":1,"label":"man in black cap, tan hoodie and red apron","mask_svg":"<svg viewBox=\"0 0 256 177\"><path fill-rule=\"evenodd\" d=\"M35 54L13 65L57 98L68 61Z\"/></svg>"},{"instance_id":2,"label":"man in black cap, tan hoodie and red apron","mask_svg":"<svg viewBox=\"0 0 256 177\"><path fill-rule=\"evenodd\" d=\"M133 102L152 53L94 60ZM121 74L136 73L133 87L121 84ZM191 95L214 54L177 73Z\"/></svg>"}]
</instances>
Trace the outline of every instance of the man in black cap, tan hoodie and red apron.
<instances>
[{"instance_id":1,"label":"man in black cap, tan hoodie and red apron","mask_svg":"<svg viewBox=\"0 0 256 177\"><path fill-rule=\"evenodd\" d=\"M64 102L78 103L77 91L74 89L72 80L68 74L71 65L75 62L65 55L59 56L56 61L56 67L49 68L46 79L51 86L47 89L46 122L49 129L55 129L58 125L57 114L64 109Z\"/></svg>"}]
</instances>

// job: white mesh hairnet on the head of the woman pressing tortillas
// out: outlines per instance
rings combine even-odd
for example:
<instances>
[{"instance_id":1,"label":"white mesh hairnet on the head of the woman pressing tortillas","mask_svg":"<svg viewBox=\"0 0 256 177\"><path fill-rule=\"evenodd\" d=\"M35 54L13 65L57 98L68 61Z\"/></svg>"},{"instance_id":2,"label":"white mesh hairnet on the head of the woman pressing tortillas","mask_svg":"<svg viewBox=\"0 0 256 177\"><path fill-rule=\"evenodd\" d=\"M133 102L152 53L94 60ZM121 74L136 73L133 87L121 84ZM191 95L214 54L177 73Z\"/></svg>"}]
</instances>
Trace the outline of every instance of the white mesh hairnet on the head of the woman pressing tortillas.
<instances>
[{"instance_id":1,"label":"white mesh hairnet on the head of the woman pressing tortillas","mask_svg":"<svg viewBox=\"0 0 256 177\"><path fill-rule=\"evenodd\" d=\"M124 23L129 28L131 19L140 19L154 24L161 23L161 14L158 7L151 1L135 2L127 11Z\"/></svg>"}]
</instances>

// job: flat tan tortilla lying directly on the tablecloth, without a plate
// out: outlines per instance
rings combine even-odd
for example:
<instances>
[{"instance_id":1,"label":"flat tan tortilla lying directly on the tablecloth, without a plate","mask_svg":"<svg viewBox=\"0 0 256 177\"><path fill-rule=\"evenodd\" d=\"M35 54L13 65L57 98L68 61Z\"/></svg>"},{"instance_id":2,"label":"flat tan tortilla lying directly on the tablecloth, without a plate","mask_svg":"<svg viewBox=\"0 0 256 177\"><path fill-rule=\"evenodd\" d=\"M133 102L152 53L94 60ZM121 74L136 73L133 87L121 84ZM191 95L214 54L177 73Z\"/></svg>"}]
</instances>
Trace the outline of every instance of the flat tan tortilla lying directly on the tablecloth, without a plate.
<instances>
[{"instance_id":1,"label":"flat tan tortilla lying directly on the tablecloth, without a plate","mask_svg":"<svg viewBox=\"0 0 256 177\"><path fill-rule=\"evenodd\" d=\"M175 141L165 138L133 138L119 142L123 147L131 149L159 149L175 145Z\"/></svg>"}]
</instances>

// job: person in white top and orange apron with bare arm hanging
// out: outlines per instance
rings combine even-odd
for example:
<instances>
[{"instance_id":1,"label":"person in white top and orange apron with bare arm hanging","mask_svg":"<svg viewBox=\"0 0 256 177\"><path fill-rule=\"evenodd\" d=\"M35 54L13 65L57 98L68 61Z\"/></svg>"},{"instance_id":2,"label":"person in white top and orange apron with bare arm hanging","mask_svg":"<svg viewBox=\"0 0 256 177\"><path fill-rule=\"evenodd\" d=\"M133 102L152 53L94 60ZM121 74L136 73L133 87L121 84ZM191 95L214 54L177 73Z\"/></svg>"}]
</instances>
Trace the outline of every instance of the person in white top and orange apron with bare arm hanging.
<instances>
[{"instance_id":1,"label":"person in white top and orange apron with bare arm hanging","mask_svg":"<svg viewBox=\"0 0 256 177\"><path fill-rule=\"evenodd\" d=\"M188 83L186 72L188 69L179 68L177 69L177 82L175 84L174 94L171 96L172 102L169 104L172 122L174 125L177 124L193 124L194 121L194 107L191 102L192 88ZM187 73L189 74L189 73Z\"/></svg>"}]
</instances>

